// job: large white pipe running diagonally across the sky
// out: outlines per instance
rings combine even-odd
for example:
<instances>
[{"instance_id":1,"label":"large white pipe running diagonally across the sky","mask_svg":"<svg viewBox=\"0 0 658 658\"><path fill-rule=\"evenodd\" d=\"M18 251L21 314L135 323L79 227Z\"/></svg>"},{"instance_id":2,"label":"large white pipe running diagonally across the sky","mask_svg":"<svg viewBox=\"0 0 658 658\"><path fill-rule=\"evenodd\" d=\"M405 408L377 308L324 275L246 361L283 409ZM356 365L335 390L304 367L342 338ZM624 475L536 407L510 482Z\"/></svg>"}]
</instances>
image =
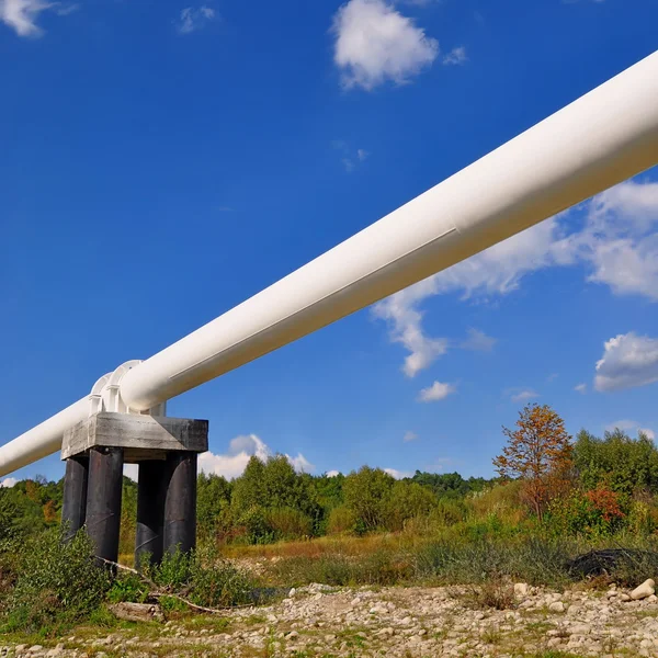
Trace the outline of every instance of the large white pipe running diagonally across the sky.
<instances>
[{"instance_id":1,"label":"large white pipe running diagonally across the sky","mask_svg":"<svg viewBox=\"0 0 658 658\"><path fill-rule=\"evenodd\" d=\"M155 407L656 163L658 52L131 370L122 398ZM0 447L0 475L56 452L81 402Z\"/></svg>"}]
</instances>

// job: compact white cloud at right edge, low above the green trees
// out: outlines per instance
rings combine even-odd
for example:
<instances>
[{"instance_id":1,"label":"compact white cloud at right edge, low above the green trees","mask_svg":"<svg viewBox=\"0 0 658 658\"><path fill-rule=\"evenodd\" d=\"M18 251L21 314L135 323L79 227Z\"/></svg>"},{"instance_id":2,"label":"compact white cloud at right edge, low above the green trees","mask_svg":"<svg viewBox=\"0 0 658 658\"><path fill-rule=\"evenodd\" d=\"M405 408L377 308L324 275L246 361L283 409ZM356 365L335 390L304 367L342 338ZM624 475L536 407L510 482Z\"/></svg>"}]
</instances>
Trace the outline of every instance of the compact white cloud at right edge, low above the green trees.
<instances>
[{"instance_id":1,"label":"compact white cloud at right edge, low above the green trees","mask_svg":"<svg viewBox=\"0 0 658 658\"><path fill-rule=\"evenodd\" d=\"M633 331L605 342L597 362L594 388L610 392L658 382L658 339Z\"/></svg>"}]
</instances>

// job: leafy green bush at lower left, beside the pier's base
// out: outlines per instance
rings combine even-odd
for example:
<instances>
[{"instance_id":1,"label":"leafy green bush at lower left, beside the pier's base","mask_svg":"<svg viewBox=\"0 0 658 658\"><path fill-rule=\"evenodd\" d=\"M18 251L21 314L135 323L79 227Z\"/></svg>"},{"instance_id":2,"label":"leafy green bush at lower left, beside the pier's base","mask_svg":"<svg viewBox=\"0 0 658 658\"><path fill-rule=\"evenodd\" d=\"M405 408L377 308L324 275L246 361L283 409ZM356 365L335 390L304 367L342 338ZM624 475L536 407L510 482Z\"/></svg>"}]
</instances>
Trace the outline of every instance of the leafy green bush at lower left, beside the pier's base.
<instances>
[{"instance_id":1,"label":"leafy green bush at lower left, beside the pier's base","mask_svg":"<svg viewBox=\"0 0 658 658\"><path fill-rule=\"evenodd\" d=\"M18 574L3 611L5 632L45 635L66 628L101 605L111 582L82 532L66 543L56 530L29 541L21 548Z\"/></svg>"}]
</instances>

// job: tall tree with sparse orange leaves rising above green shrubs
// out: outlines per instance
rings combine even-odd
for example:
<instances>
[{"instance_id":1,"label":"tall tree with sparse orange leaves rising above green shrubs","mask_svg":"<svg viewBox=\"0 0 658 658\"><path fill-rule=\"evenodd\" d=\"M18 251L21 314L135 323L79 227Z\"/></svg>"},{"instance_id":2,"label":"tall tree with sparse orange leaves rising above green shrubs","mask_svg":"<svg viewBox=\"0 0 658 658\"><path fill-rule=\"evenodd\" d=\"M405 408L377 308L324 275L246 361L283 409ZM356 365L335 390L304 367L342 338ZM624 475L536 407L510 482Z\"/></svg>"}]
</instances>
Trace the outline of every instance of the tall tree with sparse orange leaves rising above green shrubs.
<instances>
[{"instance_id":1,"label":"tall tree with sparse orange leaves rising above green shrubs","mask_svg":"<svg viewBox=\"0 0 658 658\"><path fill-rule=\"evenodd\" d=\"M571 436L565 421L548 405L526 405L517 427L502 428L508 438L502 454L494 460L496 470L523 481L523 494L541 520L546 503L568 481L572 468Z\"/></svg>"}]
</instances>

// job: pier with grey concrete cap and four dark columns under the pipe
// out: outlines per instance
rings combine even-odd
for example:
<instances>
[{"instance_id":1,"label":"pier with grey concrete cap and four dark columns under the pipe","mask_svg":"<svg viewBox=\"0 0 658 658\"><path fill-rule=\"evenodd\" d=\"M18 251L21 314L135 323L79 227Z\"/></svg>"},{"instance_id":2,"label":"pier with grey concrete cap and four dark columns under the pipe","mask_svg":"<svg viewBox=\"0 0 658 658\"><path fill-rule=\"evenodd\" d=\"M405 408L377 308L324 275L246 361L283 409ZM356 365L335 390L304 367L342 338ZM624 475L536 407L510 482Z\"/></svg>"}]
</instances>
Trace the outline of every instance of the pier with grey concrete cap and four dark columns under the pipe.
<instances>
[{"instance_id":1,"label":"pier with grey concrete cap and four dark columns under the pipe","mask_svg":"<svg viewBox=\"0 0 658 658\"><path fill-rule=\"evenodd\" d=\"M159 563L164 552L192 551L197 455L207 445L206 420L105 411L91 416L65 433L63 521L71 531L86 524L97 556L116 561L123 466L138 464L135 564L139 568L147 554Z\"/></svg>"}]
</instances>

